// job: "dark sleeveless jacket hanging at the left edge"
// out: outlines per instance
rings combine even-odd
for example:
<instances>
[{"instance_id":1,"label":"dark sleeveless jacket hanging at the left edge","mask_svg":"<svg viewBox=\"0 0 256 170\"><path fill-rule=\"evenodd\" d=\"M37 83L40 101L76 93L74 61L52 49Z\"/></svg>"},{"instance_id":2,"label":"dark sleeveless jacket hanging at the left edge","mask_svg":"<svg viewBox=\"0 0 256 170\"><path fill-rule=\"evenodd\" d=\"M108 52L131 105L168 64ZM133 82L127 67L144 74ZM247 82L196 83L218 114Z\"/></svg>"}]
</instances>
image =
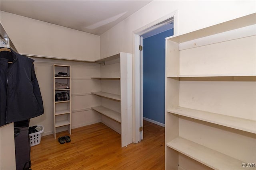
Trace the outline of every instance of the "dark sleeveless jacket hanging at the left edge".
<instances>
[{"instance_id":1,"label":"dark sleeveless jacket hanging at the left edge","mask_svg":"<svg viewBox=\"0 0 256 170\"><path fill-rule=\"evenodd\" d=\"M1 51L1 126L44 113L33 63L12 50Z\"/></svg>"}]
</instances>

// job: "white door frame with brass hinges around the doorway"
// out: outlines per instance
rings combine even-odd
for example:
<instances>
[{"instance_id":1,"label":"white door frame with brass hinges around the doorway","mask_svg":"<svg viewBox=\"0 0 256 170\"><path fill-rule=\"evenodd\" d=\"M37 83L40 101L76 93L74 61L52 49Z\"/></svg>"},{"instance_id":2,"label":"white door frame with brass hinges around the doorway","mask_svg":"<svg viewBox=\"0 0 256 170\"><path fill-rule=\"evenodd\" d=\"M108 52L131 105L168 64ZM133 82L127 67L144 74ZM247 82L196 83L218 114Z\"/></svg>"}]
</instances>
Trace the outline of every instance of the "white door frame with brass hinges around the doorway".
<instances>
[{"instance_id":1,"label":"white door frame with brass hinges around the doorway","mask_svg":"<svg viewBox=\"0 0 256 170\"><path fill-rule=\"evenodd\" d=\"M139 45L141 45L141 35L156 29L164 25L163 21L168 19L173 19L173 35L177 35L177 18L178 18L178 10L159 18L152 23L141 27L140 29L134 31L134 119L133 119L133 142L138 143L143 139L143 131L139 131L140 127L143 125L143 75L142 75L142 51L139 50Z\"/></svg>"}]
</instances>

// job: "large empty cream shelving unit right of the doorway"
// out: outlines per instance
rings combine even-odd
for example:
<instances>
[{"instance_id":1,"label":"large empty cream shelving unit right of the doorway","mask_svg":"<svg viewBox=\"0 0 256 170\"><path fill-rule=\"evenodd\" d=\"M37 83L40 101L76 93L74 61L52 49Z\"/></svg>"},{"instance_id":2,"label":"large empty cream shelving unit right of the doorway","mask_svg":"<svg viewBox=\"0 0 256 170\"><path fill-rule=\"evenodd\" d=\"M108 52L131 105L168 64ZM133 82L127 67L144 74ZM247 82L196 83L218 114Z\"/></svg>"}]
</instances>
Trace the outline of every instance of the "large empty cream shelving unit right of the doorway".
<instances>
[{"instance_id":1,"label":"large empty cream shelving unit right of the doorway","mask_svg":"<svg viewBox=\"0 0 256 170\"><path fill-rule=\"evenodd\" d=\"M166 38L166 170L256 169L255 24Z\"/></svg>"}]
</instances>

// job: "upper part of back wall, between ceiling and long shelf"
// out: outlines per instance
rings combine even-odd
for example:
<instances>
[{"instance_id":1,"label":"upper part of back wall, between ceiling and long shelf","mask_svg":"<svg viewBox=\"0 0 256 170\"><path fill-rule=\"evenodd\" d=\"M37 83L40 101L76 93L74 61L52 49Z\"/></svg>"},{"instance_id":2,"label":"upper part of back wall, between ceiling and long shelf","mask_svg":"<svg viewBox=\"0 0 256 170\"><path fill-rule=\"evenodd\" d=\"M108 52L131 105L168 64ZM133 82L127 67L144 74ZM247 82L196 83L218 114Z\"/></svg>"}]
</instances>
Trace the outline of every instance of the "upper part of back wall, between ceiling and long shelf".
<instances>
[{"instance_id":1,"label":"upper part of back wall, between ceiling and long shelf","mask_svg":"<svg viewBox=\"0 0 256 170\"><path fill-rule=\"evenodd\" d=\"M1 11L1 23L18 53L95 61L100 36Z\"/></svg>"}]
</instances>

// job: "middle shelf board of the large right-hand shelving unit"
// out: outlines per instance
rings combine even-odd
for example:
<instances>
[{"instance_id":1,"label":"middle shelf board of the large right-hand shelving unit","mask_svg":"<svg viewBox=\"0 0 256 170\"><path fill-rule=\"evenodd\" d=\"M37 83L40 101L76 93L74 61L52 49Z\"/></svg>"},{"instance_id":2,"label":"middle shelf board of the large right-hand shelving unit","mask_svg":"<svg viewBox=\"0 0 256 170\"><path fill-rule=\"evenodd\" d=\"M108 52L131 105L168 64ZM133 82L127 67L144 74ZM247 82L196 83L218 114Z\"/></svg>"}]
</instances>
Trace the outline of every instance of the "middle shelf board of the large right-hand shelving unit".
<instances>
[{"instance_id":1,"label":"middle shelf board of the large right-hand shelving unit","mask_svg":"<svg viewBox=\"0 0 256 170\"><path fill-rule=\"evenodd\" d=\"M185 107L167 109L167 112L175 113L186 117L191 117L193 119L210 122L217 125L239 129L250 133L256 133L256 121L254 120L243 119L228 115L221 115L217 113L211 113L208 111L189 109Z\"/></svg>"}]
</instances>

